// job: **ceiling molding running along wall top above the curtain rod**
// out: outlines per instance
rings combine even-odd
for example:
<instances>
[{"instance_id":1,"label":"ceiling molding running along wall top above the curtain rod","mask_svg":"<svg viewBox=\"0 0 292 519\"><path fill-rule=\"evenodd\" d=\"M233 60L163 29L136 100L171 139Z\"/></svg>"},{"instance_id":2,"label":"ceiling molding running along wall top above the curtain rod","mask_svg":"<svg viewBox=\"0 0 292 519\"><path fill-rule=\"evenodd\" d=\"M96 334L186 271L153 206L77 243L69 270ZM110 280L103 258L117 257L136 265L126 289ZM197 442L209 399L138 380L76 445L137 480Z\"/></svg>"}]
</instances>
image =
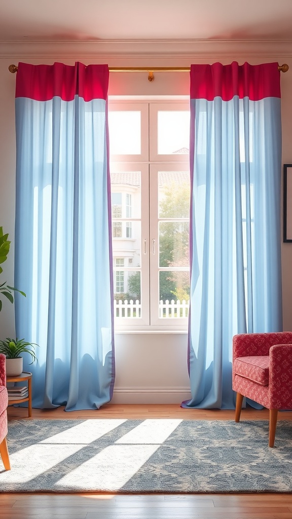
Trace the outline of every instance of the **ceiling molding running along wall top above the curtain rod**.
<instances>
[{"instance_id":1,"label":"ceiling molding running along wall top above the curtain rod","mask_svg":"<svg viewBox=\"0 0 292 519\"><path fill-rule=\"evenodd\" d=\"M292 39L289 40L74 40L74 41L1 41L0 58L15 59L99 59L123 60L149 65L150 59L175 60L246 59L266 58L282 60L292 58ZM113 65L113 63L111 63ZM167 64L167 63L166 63ZM153 63L152 63L153 65ZM154 65L153 65L154 66Z\"/></svg>"}]
</instances>

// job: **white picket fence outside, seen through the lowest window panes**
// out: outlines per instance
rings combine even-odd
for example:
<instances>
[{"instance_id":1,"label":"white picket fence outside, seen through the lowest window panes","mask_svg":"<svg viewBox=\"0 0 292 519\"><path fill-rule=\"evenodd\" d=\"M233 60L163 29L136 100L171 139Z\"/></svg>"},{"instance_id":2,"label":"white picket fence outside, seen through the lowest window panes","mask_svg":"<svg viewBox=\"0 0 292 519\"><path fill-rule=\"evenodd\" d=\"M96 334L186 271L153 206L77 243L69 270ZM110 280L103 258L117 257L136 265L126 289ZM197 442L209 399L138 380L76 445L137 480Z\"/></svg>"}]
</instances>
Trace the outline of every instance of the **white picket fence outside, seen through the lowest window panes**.
<instances>
[{"instance_id":1,"label":"white picket fence outside, seen through the lowest window panes","mask_svg":"<svg viewBox=\"0 0 292 519\"><path fill-rule=\"evenodd\" d=\"M171 301L164 302L162 299L159 304L159 317L161 319L165 318L171 318L171 319L177 319L177 318L185 318L189 315L189 307L190 307L190 301L175 301L174 299L171 299ZM133 299L130 299L130 301L116 301L114 299L114 316L117 318L139 318L141 317L141 303L136 299L136 301L133 301Z\"/></svg>"}]
</instances>

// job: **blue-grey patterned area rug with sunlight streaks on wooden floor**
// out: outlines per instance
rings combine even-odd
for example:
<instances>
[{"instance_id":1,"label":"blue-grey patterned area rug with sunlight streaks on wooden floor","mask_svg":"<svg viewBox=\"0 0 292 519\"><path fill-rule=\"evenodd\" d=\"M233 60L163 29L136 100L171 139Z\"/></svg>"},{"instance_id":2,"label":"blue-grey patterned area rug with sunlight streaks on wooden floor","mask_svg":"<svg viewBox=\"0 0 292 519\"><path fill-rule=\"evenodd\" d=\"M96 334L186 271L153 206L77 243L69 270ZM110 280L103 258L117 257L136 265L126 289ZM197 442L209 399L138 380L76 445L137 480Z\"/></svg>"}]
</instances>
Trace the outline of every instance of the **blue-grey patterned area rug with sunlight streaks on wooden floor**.
<instances>
[{"instance_id":1,"label":"blue-grey patterned area rug with sunlight streaks on wooden floor","mask_svg":"<svg viewBox=\"0 0 292 519\"><path fill-rule=\"evenodd\" d=\"M278 421L274 448L268 421L21 419L8 429L2 492L292 491L292 421Z\"/></svg>"}]
</instances>

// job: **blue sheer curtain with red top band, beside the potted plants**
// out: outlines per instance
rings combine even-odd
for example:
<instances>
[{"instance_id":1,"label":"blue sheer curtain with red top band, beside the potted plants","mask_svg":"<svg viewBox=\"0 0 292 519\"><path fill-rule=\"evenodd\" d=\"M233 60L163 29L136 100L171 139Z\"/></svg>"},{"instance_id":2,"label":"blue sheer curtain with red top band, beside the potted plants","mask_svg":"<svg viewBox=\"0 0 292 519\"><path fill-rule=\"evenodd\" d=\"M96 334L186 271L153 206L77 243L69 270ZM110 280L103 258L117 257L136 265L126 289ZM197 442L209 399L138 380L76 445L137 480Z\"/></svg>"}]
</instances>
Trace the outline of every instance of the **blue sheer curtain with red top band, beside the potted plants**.
<instances>
[{"instance_id":1,"label":"blue sheer curtain with red top band, beside the potted plants","mask_svg":"<svg viewBox=\"0 0 292 519\"><path fill-rule=\"evenodd\" d=\"M107 65L19 63L16 333L33 407L96 409L114 384Z\"/></svg>"}]
</instances>

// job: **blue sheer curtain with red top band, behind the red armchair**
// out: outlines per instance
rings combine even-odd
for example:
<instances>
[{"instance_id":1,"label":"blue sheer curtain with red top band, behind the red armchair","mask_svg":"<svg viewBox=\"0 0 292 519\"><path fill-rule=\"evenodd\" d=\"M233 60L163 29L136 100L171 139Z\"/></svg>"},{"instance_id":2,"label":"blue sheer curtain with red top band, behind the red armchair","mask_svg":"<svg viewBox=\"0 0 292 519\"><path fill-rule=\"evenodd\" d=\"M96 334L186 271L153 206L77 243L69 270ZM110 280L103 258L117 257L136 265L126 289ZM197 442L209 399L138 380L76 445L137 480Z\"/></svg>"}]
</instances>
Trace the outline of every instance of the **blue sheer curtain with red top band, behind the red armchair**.
<instances>
[{"instance_id":1,"label":"blue sheer curtain with red top band, behind the red armchair","mask_svg":"<svg viewBox=\"0 0 292 519\"><path fill-rule=\"evenodd\" d=\"M190 76L192 398L182 406L232 409L233 335L282 330L280 72L233 62L192 65Z\"/></svg>"}]
</instances>

